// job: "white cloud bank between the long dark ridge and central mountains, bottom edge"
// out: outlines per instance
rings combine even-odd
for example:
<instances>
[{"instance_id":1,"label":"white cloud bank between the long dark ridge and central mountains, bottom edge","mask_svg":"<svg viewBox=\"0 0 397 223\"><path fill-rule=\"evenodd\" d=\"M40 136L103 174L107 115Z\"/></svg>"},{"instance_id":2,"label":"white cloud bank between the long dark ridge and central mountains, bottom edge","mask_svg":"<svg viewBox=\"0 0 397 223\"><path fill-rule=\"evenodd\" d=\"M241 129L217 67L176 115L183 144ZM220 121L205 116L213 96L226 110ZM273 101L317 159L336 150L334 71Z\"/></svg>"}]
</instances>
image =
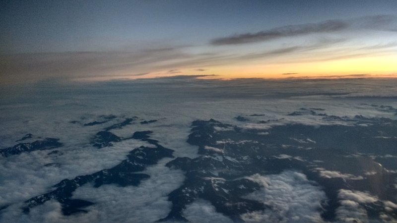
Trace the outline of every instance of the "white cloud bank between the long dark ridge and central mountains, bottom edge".
<instances>
[{"instance_id":1,"label":"white cloud bank between the long dark ridge and central mountains, bottom edge","mask_svg":"<svg viewBox=\"0 0 397 223\"><path fill-rule=\"evenodd\" d=\"M147 167L143 173L150 178L139 186L92 185L79 187L72 199L83 199L95 204L85 208L87 214L67 217L72 222L155 222L167 216L171 209L168 194L182 184L185 176L181 170L169 169L163 159L158 165ZM33 208L34 210L36 208Z\"/></svg>"}]
</instances>

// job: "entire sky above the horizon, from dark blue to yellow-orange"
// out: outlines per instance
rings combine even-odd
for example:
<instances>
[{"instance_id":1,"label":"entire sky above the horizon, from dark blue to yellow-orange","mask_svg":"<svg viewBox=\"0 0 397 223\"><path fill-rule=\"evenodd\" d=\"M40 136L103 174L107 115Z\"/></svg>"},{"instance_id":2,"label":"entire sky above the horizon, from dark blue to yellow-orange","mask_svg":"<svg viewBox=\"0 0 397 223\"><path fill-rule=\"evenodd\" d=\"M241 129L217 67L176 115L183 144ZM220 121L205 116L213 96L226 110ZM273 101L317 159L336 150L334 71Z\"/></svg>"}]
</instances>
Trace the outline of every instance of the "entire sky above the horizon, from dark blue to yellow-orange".
<instances>
[{"instance_id":1,"label":"entire sky above the horizon, from dark blue to yellow-orange","mask_svg":"<svg viewBox=\"0 0 397 223\"><path fill-rule=\"evenodd\" d=\"M1 84L397 76L396 0L2 0Z\"/></svg>"}]
</instances>

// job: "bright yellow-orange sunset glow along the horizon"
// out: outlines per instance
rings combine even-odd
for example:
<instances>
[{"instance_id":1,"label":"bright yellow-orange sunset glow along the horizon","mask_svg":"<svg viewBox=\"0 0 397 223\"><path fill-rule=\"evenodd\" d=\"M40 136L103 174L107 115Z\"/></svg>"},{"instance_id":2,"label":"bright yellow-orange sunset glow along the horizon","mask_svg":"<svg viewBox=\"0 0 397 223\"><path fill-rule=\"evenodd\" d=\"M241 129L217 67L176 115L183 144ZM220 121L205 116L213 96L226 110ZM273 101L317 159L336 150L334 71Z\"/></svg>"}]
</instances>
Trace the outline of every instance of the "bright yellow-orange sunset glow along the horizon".
<instances>
[{"instance_id":1,"label":"bright yellow-orange sunset glow along the horizon","mask_svg":"<svg viewBox=\"0 0 397 223\"><path fill-rule=\"evenodd\" d=\"M319 54L319 58L324 55ZM284 61L280 61L284 60ZM288 61L289 60L289 61ZM285 62L287 61L287 62ZM173 66L153 68L141 67L140 69L125 69L95 73L91 76L71 77L72 81L95 82L109 80L135 80L165 78L172 76L197 76L197 79L206 80L234 80L243 78L260 79L335 79L335 78L397 78L397 54L377 56L353 56L348 58L321 60L313 55L301 58L283 57L274 59L257 59L253 61L234 61L225 64L223 61L214 65ZM170 71L178 72L170 72ZM142 74L135 74L142 73ZM144 74L147 73L147 74Z\"/></svg>"}]
</instances>

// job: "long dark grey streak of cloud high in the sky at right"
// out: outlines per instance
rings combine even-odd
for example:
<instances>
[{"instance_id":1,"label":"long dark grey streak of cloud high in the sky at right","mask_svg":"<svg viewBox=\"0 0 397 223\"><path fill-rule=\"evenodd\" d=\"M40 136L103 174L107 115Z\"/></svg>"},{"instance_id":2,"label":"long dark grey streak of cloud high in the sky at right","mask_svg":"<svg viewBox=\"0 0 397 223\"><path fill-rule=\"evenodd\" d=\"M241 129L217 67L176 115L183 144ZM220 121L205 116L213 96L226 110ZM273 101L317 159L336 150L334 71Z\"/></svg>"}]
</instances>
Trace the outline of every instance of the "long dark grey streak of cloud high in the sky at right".
<instances>
[{"instance_id":1,"label":"long dark grey streak of cloud high in the sky at right","mask_svg":"<svg viewBox=\"0 0 397 223\"><path fill-rule=\"evenodd\" d=\"M256 43L275 40L283 37L296 37L313 33L332 33L343 31L348 28L366 28L366 29L385 29L393 31L393 28L387 28L395 20L394 16L377 15L365 16L353 20L327 20L319 23L306 23L299 25L281 26L257 33L245 33L240 35L221 37L213 39L210 44L214 46L221 45L238 45L247 43Z\"/></svg>"}]
</instances>

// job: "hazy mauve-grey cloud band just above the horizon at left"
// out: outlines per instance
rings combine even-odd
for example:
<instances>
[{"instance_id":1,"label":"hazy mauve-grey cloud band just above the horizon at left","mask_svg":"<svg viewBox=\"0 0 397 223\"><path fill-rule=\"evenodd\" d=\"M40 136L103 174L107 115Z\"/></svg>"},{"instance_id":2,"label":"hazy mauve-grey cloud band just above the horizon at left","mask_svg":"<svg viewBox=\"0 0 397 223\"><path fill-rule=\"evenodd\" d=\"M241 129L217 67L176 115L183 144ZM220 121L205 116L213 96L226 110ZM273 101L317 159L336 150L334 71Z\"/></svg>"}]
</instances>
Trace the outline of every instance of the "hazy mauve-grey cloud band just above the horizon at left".
<instances>
[{"instance_id":1,"label":"hazy mauve-grey cloud band just above the horizon at left","mask_svg":"<svg viewBox=\"0 0 397 223\"><path fill-rule=\"evenodd\" d=\"M44 79L143 76L152 71L171 68L164 64L186 58L189 55L178 48L0 56L0 82L12 84Z\"/></svg>"}]
</instances>

